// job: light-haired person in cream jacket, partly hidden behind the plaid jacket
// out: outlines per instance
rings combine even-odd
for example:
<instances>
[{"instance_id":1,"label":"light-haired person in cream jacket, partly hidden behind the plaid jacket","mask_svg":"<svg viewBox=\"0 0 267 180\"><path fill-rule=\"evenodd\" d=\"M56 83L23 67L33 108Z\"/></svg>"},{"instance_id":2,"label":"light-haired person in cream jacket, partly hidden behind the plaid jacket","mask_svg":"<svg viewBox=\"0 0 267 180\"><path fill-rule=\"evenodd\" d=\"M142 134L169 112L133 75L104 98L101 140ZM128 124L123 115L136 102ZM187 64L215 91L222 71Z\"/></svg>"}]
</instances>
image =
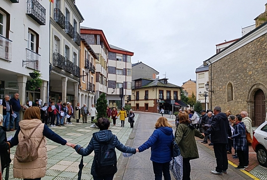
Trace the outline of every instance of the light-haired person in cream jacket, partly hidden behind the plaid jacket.
<instances>
[{"instance_id":1,"label":"light-haired person in cream jacket, partly hidden behind the plaid jacket","mask_svg":"<svg viewBox=\"0 0 267 180\"><path fill-rule=\"evenodd\" d=\"M244 123L247 131L251 135L251 139L253 139L253 130L252 130L252 125L251 125L252 120L249 118L248 112L242 111L240 113L240 115L242 117L242 122ZM247 150L245 150L244 154L245 154L245 166L244 167L247 168L249 165L249 146L248 146L248 143L247 143Z\"/></svg>"}]
</instances>

